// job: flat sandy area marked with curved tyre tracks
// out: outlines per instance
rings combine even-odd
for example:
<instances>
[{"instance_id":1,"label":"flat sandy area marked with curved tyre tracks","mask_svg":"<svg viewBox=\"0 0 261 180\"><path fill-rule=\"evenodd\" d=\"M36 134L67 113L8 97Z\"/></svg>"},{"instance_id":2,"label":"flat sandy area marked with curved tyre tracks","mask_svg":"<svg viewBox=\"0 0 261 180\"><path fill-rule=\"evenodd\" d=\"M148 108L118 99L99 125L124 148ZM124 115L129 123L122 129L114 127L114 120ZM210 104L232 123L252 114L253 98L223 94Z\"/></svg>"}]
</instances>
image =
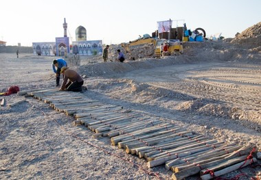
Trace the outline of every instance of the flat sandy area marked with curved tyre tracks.
<instances>
[{"instance_id":1,"label":"flat sandy area marked with curved tyre tracks","mask_svg":"<svg viewBox=\"0 0 261 180\"><path fill-rule=\"evenodd\" d=\"M254 64L177 64L152 70L137 70L122 78L190 95L190 99L218 101L218 104L226 107L240 108L247 117L241 114L238 118L253 121L256 123L255 129L261 131L260 68L261 66Z\"/></svg>"}]
</instances>

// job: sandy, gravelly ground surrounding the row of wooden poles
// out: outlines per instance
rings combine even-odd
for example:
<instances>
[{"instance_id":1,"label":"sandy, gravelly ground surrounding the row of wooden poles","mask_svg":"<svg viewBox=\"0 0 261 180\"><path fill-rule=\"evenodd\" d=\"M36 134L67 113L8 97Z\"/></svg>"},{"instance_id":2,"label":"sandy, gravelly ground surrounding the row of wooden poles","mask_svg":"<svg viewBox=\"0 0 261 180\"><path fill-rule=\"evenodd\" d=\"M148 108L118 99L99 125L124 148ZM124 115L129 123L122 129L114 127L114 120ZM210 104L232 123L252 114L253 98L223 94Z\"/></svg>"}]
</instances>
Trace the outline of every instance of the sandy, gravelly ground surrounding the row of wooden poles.
<instances>
[{"instance_id":1,"label":"sandy, gravelly ground surrounding the row of wooden poles","mask_svg":"<svg viewBox=\"0 0 261 180\"><path fill-rule=\"evenodd\" d=\"M208 48L124 63L82 58L82 66L71 68L84 77L87 97L160 117L219 141L256 145L260 151L260 53ZM0 54L1 92L14 85L21 90L54 87L53 58ZM25 99L16 94L4 98L7 104ZM86 127L73 125L72 116L43 101L26 98L14 107L0 108L0 179L171 178L170 170L147 168L144 159L111 146L109 138L93 138ZM261 168L248 166L223 178L241 172L246 176L240 179L250 179Z\"/></svg>"}]
</instances>

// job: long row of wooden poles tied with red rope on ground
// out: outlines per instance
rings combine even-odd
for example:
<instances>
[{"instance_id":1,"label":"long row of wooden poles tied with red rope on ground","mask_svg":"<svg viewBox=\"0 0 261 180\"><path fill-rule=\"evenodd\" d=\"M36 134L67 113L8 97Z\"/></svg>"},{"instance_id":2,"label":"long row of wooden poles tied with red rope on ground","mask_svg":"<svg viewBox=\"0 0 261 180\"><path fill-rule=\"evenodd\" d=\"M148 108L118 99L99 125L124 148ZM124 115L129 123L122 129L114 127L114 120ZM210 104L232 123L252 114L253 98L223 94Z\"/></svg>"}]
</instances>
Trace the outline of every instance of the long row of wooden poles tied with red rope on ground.
<instances>
[{"instance_id":1,"label":"long row of wooden poles tied with red rope on ground","mask_svg":"<svg viewBox=\"0 0 261 180\"><path fill-rule=\"evenodd\" d=\"M49 103L58 112L76 118L75 124L88 127L93 136L111 138L111 144L148 161L148 168L165 164L172 170L172 179L199 174L212 179L256 162L251 156L254 146L238 146L206 138L186 131L158 117L124 110L84 97L76 92L56 88L20 92ZM250 158L251 157L251 158Z\"/></svg>"}]
</instances>

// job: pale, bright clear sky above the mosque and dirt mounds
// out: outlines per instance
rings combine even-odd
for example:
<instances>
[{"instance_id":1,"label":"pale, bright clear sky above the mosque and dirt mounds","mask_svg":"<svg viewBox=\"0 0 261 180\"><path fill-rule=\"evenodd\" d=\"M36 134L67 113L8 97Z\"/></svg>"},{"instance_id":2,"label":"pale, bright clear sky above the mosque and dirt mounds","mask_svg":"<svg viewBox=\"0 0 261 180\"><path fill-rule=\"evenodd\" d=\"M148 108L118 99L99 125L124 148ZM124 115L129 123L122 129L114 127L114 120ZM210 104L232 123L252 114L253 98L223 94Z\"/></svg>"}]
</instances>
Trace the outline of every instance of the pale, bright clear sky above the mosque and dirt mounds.
<instances>
[{"instance_id":1,"label":"pale, bright clear sky above the mosque and dirt mounds","mask_svg":"<svg viewBox=\"0 0 261 180\"><path fill-rule=\"evenodd\" d=\"M172 27L205 29L207 36L222 33L234 38L237 32L261 21L260 0L9 0L0 2L0 40L7 45L32 46L32 42L54 42L67 35L76 40L76 28L87 29L87 40L120 44L139 35L152 34L157 21L174 21Z\"/></svg>"}]
</instances>

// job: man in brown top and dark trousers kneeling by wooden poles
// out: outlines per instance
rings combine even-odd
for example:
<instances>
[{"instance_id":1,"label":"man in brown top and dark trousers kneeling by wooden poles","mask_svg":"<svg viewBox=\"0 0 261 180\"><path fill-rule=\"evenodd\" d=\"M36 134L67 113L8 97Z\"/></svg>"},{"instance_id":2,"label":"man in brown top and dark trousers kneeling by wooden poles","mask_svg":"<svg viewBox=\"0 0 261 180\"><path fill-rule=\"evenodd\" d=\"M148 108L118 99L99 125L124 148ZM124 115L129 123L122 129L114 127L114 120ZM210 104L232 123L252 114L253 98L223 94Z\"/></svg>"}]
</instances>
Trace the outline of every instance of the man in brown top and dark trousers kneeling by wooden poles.
<instances>
[{"instance_id":1,"label":"man in brown top and dark trousers kneeling by wooden poles","mask_svg":"<svg viewBox=\"0 0 261 180\"><path fill-rule=\"evenodd\" d=\"M63 84L59 90L68 90L74 92L82 91L82 85L84 81L82 77L75 70L63 66L63 68L61 68L60 70L60 73L63 73L64 79L63 79ZM67 83L68 79L69 82Z\"/></svg>"}]
</instances>

